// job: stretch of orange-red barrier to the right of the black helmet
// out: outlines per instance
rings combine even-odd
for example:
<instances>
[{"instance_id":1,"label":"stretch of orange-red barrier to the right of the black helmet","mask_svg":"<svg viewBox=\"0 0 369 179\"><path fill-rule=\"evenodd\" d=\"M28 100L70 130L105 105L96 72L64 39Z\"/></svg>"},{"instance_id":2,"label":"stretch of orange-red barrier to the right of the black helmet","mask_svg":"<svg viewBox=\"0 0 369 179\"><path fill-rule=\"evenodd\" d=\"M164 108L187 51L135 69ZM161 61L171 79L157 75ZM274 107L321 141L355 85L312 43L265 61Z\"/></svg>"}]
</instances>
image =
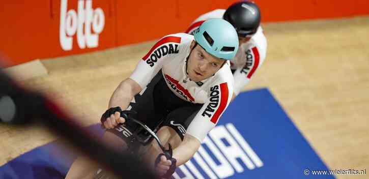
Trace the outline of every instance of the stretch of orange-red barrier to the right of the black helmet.
<instances>
[{"instance_id":1,"label":"stretch of orange-red barrier to the right of the black helmet","mask_svg":"<svg viewBox=\"0 0 369 179\"><path fill-rule=\"evenodd\" d=\"M338 18L369 14L367 0L256 1L264 22Z\"/></svg>"}]
</instances>

